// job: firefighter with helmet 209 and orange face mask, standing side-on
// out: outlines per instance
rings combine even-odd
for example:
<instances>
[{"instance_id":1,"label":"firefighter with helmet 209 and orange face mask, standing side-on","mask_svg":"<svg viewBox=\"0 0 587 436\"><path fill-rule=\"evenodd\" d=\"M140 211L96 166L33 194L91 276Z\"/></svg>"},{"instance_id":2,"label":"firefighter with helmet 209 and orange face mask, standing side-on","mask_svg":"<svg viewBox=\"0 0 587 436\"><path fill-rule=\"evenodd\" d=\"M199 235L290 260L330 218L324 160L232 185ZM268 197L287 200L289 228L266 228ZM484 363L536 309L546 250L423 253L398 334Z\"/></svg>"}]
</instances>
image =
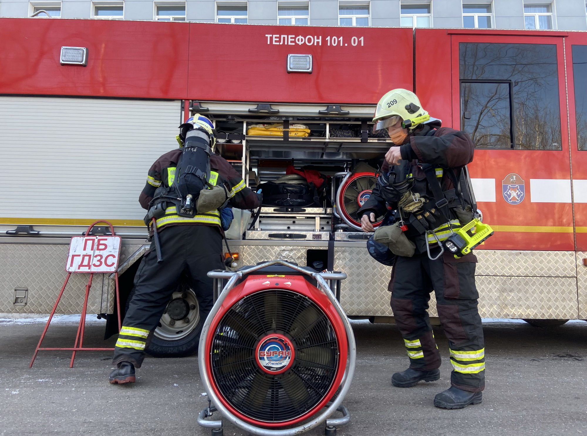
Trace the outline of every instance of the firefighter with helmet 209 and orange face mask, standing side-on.
<instances>
[{"instance_id":1,"label":"firefighter with helmet 209 and orange face mask, standing side-on","mask_svg":"<svg viewBox=\"0 0 587 436\"><path fill-rule=\"evenodd\" d=\"M379 227L373 240L394 254L391 306L410 360L407 370L393 374L392 384L411 387L440 378L440 353L427 313L434 291L453 365L451 387L436 395L434 405L456 409L479 404L485 348L475 288L477 258L470 253L456 259L442 246L477 214L464 171L473 160L474 145L467 133L430 118L406 89L384 95L373 121L373 130L387 129L395 146L359 213L365 232L375 231L375 217L387 213L390 218L391 225Z\"/></svg>"}]
</instances>

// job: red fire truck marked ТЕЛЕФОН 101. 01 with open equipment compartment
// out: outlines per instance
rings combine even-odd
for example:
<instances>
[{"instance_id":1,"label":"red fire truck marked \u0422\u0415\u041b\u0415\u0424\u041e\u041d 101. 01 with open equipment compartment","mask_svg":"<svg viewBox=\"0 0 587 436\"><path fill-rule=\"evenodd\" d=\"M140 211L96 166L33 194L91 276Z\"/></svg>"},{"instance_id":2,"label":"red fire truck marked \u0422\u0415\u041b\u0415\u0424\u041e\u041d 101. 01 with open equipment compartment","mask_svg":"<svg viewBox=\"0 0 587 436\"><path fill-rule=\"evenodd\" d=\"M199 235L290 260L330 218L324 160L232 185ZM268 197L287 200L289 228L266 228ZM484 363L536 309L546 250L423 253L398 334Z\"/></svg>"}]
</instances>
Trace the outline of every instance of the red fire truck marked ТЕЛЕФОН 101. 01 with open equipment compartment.
<instances>
[{"instance_id":1,"label":"red fire truck marked \u0422\u0415\u041b\u0415\u0424\u041e\u041d 101. 01 with open equipment compartment","mask_svg":"<svg viewBox=\"0 0 587 436\"><path fill-rule=\"evenodd\" d=\"M348 315L393 322L390 268L367 254L356 210L390 146L370 133L375 104L406 88L477 147L468 171L495 230L476 251L481 316L587 318L585 33L2 18L0 41L0 312L48 313L69 237L96 219L123 237L128 292L149 248L147 169L202 113L250 186L288 165L333 180L322 207L264 207L250 230L239 215L238 263L345 271ZM248 135L256 123L286 133ZM84 280L58 313L79 313ZM89 311L112 314L112 277L94 289ZM197 305L189 289L174 299ZM173 354L197 322L164 314L156 337Z\"/></svg>"}]
</instances>

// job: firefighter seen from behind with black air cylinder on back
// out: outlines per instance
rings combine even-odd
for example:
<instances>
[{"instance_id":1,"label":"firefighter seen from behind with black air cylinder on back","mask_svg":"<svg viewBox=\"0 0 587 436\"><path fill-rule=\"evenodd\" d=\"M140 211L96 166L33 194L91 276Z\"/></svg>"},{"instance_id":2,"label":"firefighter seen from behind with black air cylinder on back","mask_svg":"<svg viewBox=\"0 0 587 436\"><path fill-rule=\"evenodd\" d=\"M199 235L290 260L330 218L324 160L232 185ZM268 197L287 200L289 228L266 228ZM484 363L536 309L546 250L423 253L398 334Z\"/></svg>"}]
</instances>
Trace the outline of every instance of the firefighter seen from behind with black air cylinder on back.
<instances>
[{"instance_id":1,"label":"firefighter seen from behind with black air cylinder on back","mask_svg":"<svg viewBox=\"0 0 587 436\"><path fill-rule=\"evenodd\" d=\"M197 349L201 328L213 304L212 279L207 273L224 267L220 209L254 209L261 204L260 194L248 189L230 163L214 154L212 127L204 116L188 119L180 126L180 148L159 157L149 169L139 202L149 211L145 221L150 225L151 236L155 230L153 220L156 222L163 261L157 259L153 240L134 278L114 348L113 364L117 368L110 374L110 383L135 381L134 368L143 363L144 350L164 311L172 310L169 306L176 299L170 303L170 297L178 290L182 276L188 278L198 299L200 321L191 339ZM190 308L183 301L175 304L174 311L183 310L182 304L186 311Z\"/></svg>"}]
</instances>

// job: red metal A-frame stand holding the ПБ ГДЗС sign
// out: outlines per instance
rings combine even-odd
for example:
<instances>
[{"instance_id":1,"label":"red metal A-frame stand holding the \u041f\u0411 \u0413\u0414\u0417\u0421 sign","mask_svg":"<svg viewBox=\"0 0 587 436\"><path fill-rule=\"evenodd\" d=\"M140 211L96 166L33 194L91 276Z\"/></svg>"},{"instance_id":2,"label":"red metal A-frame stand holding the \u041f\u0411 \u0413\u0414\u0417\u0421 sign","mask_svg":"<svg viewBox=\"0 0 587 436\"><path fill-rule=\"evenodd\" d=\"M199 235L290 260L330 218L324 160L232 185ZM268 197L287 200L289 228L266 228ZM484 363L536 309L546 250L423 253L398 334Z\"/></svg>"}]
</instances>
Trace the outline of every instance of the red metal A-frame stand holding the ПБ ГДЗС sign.
<instances>
[{"instance_id":1,"label":"red metal A-frame stand holding the \u041f\u0411 \u0413\u0414\u0417\u0421 sign","mask_svg":"<svg viewBox=\"0 0 587 436\"><path fill-rule=\"evenodd\" d=\"M110 235L107 237L90 237L90 230L92 230L92 227L95 226L97 223L106 223L110 226ZM63 287L61 288L61 291L59 292L59 296L57 297L57 301L55 301L55 306L53 306L53 310L51 311L51 314L49 315L49 319L47 320L47 324L45 325L45 330L43 330L43 333L41 334L41 339L39 339L39 343L37 344L36 348L35 348L35 354L33 354L33 357L31 359L31 364L29 364L29 368L32 367L33 363L35 362L35 358L37 356L37 354L39 353L40 350L43 351L57 351L57 350L71 350L72 351L72 358L71 361L69 363L69 367L73 368L73 361L75 360L75 355L77 353L77 351L113 351L114 348L86 348L83 347L83 334L85 331L85 327L86 327L86 310L87 310L87 299L90 295L90 288L92 287L92 279L94 277L94 274L96 273L100 273L100 274L104 274L104 273L114 273L114 283L116 284L116 307L117 307L117 314L118 314L118 330L120 331L120 328L122 328L122 324L121 324L121 320L120 320L120 296L119 296L119 289L118 289L118 261L119 261L119 254L120 254L120 236L114 236L114 227L112 226L112 224L110 224L107 221L104 220L99 220L96 221L95 223L93 223L92 225L90 225L90 227L87 228L87 232L85 233L86 237L83 236L74 236L72 237L72 241L70 242L69 245L69 256L68 256L68 264L66 265L66 270L68 271L68 275L67 277L65 277L65 282L63 283ZM82 239L83 242L83 250L86 250L87 248L87 242L90 241L92 242L92 254L73 254L72 256L72 252L73 250L80 249L80 243L79 243L79 239ZM97 246L99 247L100 244L103 245L107 245L106 243L104 243L104 241L108 240L108 239L118 239L118 244L112 249L110 248L110 250L106 251L107 254L106 256L104 256L103 254L95 254L96 251L96 247L95 247L95 242L97 240ZM77 243L77 244L76 244ZM115 254L114 254L115 253ZM79 259L77 261L76 266L74 266L75 263L75 257L81 257L81 259ZM82 256L91 256L91 257L87 257L88 261L87 261L87 266L85 266L83 264L83 260L84 257ZM100 256L98 258L98 256ZM114 256L114 258L111 260L111 263L107 263L107 258L110 256ZM96 265L96 263L98 263L98 265ZM87 269L89 271L81 271L80 268L85 268L87 267ZM90 273L90 278L87 280L87 284L86 284L86 296L83 300L83 308L82 308L82 314L79 318L79 325L77 326L77 334L76 334L76 338L75 338L75 343L73 344L73 347L68 347L68 348L42 348L41 347L41 343L43 342L43 339L45 338L45 334L47 333L47 330L49 328L49 324L51 323L51 320L53 318L53 315L55 314L55 311L57 310L57 306L59 304L59 301L61 300L61 297L63 296L63 291L65 291L65 287L68 284L69 281L69 277L72 275L72 273Z\"/></svg>"}]
</instances>

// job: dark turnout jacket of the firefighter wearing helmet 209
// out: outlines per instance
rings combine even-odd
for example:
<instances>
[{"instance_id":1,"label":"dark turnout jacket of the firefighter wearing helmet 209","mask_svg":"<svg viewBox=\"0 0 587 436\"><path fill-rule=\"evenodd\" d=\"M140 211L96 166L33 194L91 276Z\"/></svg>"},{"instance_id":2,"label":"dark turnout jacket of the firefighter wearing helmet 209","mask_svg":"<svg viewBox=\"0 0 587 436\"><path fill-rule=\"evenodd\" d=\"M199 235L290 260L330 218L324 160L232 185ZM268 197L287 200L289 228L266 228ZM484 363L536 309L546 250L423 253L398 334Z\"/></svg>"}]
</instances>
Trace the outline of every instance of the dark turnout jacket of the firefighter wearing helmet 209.
<instances>
[{"instance_id":1,"label":"dark turnout jacket of the firefighter wearing helmet 209","mask_svg":"<svg viewBox=\"0 0 587 436\"><path fill-rule=\"evenodd\" d=\"M434 195L427 183L426 175L424 175L419 165L429 163L435 169L443 169L443 176L439 177L439 179L441 189L446 192L454 188L453 182L448 175L448 170L453 170L458 175L458 171L462 167L473 161L475 147L467 132L448 127L434 128L431 125L424 125L423 129L415 132L409 139L408 143L400 147L403 159L400 165L389 166L385 162L382 170L383 172L391 170L395 173L395 177L393 173L390 175L390 183L393 183L393 179L395 179L395 182L400 182L409 177L414 177L414 186L411 190L414 193L417 192L427 196L429 199L433 199ZM390 201L389 196L386 199L382 192L382 187L377 182L369 200L360 208L359 214L364 215L373 212L375 216L383 216L389 213L390 210L396 211L398 199L393 200L391 199ZM397 212L395 212L394 218L399 220ZM416 243L417 251L426 251L424 236L418 236L413 229L409 229L406 236Z\"/></svg>"}]
</instances>

